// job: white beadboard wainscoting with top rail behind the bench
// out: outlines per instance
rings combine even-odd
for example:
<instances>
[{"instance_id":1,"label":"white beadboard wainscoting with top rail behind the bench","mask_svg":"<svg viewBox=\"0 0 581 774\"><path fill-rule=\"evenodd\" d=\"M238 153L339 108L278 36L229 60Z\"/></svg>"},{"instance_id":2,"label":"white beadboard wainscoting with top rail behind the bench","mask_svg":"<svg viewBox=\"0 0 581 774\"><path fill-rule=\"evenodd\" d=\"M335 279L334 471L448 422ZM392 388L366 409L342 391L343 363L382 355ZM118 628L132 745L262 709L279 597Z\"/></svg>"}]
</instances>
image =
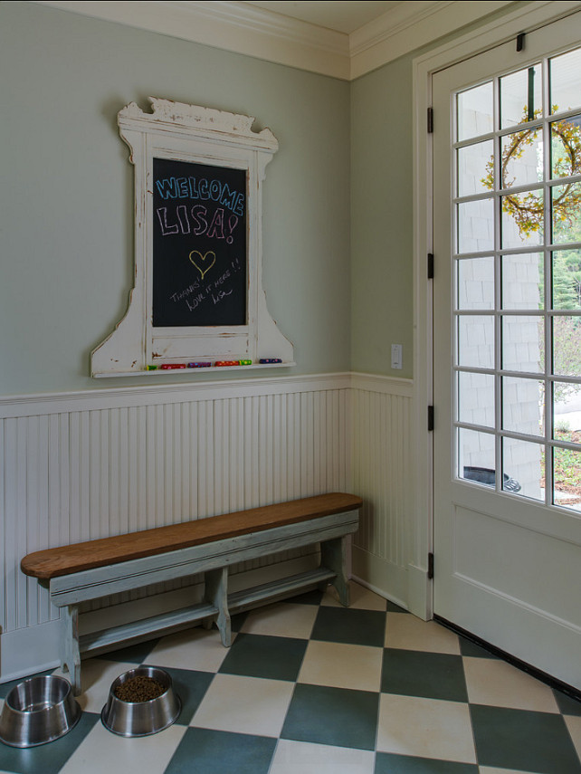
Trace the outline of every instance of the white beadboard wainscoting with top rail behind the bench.
<instances>
[{"instance_id":1,"label":"white beadboard wainscoting with top rail behind the bench","mask_svg":"<svg viewBox=\"0 0 581 774\"><path fill-rule=\"evenodd\" d=\"M59 611L20 571L34 550L319 492L364 498L353 573L405 605L411 382L252 378L0 398L0 679L56 664ZM237 568L235 588L310 569L312 549ZM87 607L82 631L193 604L196 578Z\"/></svg>"}]
</instances>

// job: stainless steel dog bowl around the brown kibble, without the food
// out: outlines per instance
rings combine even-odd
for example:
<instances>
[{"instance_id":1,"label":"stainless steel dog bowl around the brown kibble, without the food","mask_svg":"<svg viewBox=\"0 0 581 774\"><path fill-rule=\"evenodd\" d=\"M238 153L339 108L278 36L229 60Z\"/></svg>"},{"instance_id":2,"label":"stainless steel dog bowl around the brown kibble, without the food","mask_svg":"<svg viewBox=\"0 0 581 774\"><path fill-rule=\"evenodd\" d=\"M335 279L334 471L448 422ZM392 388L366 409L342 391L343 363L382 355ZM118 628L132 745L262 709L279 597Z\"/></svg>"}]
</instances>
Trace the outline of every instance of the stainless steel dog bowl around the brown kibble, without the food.
<instances>
[{"instance_id":1,"label":"stainless steel dog bowl around the brown kibble, without the food","mask_svg":"<svg viewBox=\"0 0 581 774\"><path fill-rule=\"evenodd\" d=\"M148 702L125 702L115 695L121 683L132 677L151 677L165 688L157 699ZM148 736L167 729L181 710L178 697L174 693L172 679L163 669L154 666L138 666L124 672L111 683L109 699L100 713L100 719L106 729L119 736Z\"/></svg>"}]
</instances>

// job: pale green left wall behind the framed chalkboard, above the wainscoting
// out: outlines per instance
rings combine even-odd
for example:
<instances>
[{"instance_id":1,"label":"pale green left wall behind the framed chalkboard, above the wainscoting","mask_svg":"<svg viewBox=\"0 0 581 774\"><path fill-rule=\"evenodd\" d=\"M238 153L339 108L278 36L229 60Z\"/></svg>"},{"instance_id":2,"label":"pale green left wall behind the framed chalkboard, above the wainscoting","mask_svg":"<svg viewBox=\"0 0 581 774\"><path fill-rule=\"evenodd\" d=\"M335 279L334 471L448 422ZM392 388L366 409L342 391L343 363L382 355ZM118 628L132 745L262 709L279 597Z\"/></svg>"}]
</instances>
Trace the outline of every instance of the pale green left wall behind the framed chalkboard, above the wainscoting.
<instances>
[{"instance_id":1,"label":"pale green left wall behind the framed chalkboard, above the wainscoting","mask_svg":"<svg viewBox=\"0 0 581 774\"><path fill-rule=\"evenodd\" d=\"M0 4L0 72L0 394L180 379L89 377L132 285L133 167L117 113L148 95L271 128L263 276L295 345L288 373L349 369L347 82L21 2Z\"/></svg>"}]
</instances>

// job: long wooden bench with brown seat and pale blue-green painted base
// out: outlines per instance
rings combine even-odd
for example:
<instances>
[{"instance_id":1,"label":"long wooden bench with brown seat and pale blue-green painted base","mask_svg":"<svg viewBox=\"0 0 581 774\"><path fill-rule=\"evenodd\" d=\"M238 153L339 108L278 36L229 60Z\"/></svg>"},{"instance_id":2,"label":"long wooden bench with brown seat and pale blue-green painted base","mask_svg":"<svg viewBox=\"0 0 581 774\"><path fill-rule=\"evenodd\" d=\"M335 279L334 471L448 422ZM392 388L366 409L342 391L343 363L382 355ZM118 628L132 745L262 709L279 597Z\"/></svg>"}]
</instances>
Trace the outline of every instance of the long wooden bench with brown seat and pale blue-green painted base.
<instances>
[{"instance_id":1,"label":"long wooden bench with brown seat and pale blue-green painted base","mask_svg":"<svg viewBox=\"0 0 581 774\"><path fill-rule=\"evenodd\" d=\"M62 607L62 670L81 693L81 653L104 651L204 621L216 623L222 643L232 642L231 612L290 597L332 583L349 604L347 536L357 531L361 499L333 492L249 511L225 513L154 530L57 549L35 551L21 562L23 572L49 589ZM320 543L318 569L229 593L228 568L238 562ZM81 602L201 574L204 600L192 607L79 636Z\"/></svg>"}]
</instances>

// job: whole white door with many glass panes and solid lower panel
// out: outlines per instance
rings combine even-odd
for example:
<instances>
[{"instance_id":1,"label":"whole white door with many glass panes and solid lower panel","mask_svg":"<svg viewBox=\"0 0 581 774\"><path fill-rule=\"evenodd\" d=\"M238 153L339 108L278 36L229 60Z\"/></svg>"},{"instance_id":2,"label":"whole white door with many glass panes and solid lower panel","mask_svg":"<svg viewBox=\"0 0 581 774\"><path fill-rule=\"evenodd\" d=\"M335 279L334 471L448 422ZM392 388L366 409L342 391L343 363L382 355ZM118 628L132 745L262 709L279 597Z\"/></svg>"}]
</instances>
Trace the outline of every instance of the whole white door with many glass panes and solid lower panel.
<instances>
[{"instance_id":1,"label":"whole white door with many glass panes and solid lower panel","mask_svg":"<svg viewBox=\"0 0 581 774\"><path fill-rule=\"evenodd\" d=\"M433 494L434 613L581 689L579 30L433 76Z\"/></svg>"}]
</instances>

